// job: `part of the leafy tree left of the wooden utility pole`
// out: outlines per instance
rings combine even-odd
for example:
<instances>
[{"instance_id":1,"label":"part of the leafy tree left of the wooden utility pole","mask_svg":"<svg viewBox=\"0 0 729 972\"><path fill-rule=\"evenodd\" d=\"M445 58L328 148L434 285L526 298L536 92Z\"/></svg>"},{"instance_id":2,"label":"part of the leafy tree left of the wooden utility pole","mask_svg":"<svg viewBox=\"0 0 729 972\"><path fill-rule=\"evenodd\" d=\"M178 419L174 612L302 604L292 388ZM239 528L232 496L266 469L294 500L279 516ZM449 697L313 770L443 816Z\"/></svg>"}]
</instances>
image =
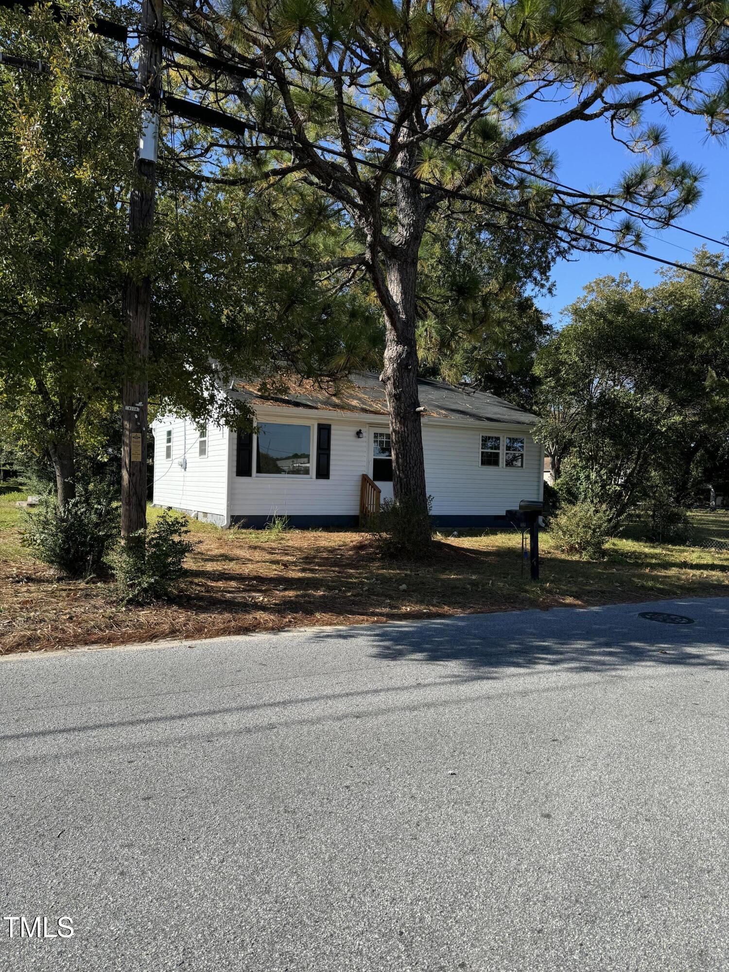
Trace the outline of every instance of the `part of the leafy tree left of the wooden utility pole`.
<instances>
[{"instance_id":1,"label":"part of the leafy tree left of the wooden utility pole","mask_svg":"<svg viewBox=\"0 0 729 972\"><path fill-rule=\"evenodd\" d=\"M93 439L121 383L113 284L138 114L125 92L99 98L73 77L79 56L98 60L86 25L61 27L47 10L0 17L14 53L53 65L0 69L0 406L21 446L50 454L65 503L75 443Z\"/></svg>"}]
</instances>

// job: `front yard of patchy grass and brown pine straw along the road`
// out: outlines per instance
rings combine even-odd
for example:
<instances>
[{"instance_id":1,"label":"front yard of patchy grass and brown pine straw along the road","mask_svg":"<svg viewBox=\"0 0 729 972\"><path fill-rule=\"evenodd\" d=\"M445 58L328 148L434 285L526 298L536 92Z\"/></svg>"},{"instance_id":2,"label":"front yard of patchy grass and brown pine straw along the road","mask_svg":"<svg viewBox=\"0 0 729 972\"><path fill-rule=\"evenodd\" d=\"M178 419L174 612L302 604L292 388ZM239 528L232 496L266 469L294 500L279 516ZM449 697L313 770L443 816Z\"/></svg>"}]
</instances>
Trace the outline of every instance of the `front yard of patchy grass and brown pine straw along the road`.
<instances>
[{"instance_id":1,"label":"front yard of patchy grass and brown pine straw along the road","mask_svg":"<svg viewBox=\"0 0 729 972\"><path fill-rule=\"evenodd\" d=\"M729 594L729 553L610 541L600 563L541 537L541 581L521 576L520 535L439 538L427 563L380 560L364 534L222 531L191 521L191 573L179 596L120 608L101 580L65 580L20 545L18 493L0 493L0 654L81 644L273 631L469 611L600 605ZM157 513L150 511L151 518ZM697 537L729 539L729 513L693 514ZM404 585L404 590L400 588Z\"/></svg>"}]
</instances>

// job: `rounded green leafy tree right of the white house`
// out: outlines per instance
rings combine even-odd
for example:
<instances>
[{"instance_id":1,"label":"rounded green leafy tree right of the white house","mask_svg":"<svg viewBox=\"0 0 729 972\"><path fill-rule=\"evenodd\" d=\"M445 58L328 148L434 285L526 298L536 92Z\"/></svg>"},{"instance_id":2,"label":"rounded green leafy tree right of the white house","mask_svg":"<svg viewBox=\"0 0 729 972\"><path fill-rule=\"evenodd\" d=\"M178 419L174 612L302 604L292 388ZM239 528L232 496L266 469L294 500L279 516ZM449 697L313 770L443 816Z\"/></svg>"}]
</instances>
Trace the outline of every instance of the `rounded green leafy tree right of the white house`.
<instances>
[{"instance_id":1,"label":"rounded green leafy tree right of the white house","mask_svg":"<svg viewBox=\"0 0 729 972\"><path fill-rule=\"evenodd\" d=\"M695 265L726 276L720 254ZM570 499L614 517L654 496L686 503L729 439L727 286L683 270L642 288L594 281L536 371L538 434Z\"/></svg>"}]
</instances>

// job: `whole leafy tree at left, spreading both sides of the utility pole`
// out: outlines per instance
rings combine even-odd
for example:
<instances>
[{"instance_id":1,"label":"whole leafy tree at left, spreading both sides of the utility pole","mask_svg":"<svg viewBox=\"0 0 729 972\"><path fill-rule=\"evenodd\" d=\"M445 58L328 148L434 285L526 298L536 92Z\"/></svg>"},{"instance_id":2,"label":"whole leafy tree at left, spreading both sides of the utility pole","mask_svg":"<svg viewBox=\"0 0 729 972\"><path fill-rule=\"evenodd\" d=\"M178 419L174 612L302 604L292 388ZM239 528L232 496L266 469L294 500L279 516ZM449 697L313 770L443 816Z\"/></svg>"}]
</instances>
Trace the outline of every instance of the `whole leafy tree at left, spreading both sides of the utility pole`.
<instances>
[{"instance_id":1,"label":"whole leafy tree at left, spreading both sides of the utility pole","mask_svg":"<svg viewBox=\"0 0 729 972\"><path fill-rule=\"evenodd\" d=\"M88 32L85 8L69 12L0 12L0 49L50 65L0 65L0 414L6 439L50 458L61 505L75 495L79 448L108 453L131 370L121 293L140 113L134 91L79 78L80 65L123 78L123 64ZM366 358L372 311L317 282L305 259L291 265L289 236L310 236L303 258L324 248L306 207L272 211L245 187L201 184L174 152L161 168L148 262L131 266L153 280L157 408L241 424L248 407L221 394L233 374L317 376Z\"/></svg>"}]
</instances>

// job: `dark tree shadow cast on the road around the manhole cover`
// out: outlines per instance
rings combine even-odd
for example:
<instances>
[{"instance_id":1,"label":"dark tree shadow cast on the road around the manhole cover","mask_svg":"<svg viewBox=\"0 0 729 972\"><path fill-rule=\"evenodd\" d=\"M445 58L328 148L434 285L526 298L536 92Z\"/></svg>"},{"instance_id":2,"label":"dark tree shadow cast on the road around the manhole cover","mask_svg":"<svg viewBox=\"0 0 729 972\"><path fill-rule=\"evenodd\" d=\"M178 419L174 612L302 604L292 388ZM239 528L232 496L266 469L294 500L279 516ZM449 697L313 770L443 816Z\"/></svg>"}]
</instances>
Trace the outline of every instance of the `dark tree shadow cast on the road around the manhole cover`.
<instances>
[{"instance_id":1,"label":"dark tree shadow cast on the road around the manhole cover","mask_svg":"<svg viewBox=\"0 0 729 972\"><path fill-rule=\"evenodd\" d=\"M695 623L639 617L646 608L680 612ZM317 637L365 638L376 659L453 665L493 678L538 668L616 675L646 665L729 671L729 598L470 614L322 631Z\"/></svg>"}]
</instances>

